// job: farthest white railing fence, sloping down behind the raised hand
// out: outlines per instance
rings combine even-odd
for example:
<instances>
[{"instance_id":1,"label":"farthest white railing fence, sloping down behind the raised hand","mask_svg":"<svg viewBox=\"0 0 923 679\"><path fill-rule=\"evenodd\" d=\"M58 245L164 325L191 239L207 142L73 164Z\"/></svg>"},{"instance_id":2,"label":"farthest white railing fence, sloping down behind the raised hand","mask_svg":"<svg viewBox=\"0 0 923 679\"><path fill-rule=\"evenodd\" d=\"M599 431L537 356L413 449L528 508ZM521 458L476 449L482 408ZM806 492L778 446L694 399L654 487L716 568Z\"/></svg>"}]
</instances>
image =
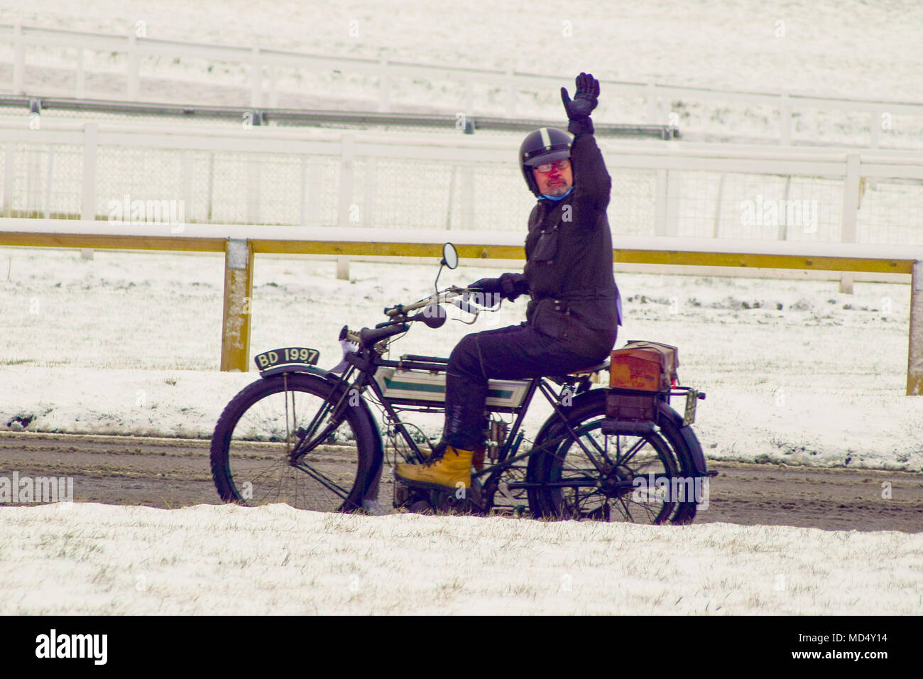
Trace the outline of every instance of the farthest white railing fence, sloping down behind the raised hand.
<instances>
[{"instance_id":1,"label":"farthest white railing fence, sloping down behind the raised hand","mask_svg":"<svg viewBox=\"0 0 923 679\"><path fill-rule=\"evenodd\" d=\"M204 103L202 98L209 96L210 88L223 86L228 91L215 95L223 97L220 103L255 108L314 108L300 94L311 91L351 97L357 105L383 112L395 104L407 110L430 102L430 109L466 115L537 117L560 115L557 89L571 78L513 69L309 55L259 45L178 42L138 32L117 35L0 24L0 45L6 44L11 67L9 91L130 101L167 101L178 95L186 96L184 103L190 103L190 97ZM55 89L42 79L41 67L66 68L73 72L73 79L68 87ZM30 70L38 74L34 81ZM163 79L172 81L174 87L162 87ZM180 87L190 80L198 85ZM596 115L602 122L674 125L683 132L735 134L782 145L923 147L923 103L606 79L601 84L606 96ZM761 115L747 115L753 110ZM758 122L758 118L765 121Z\"/></svg>"}]
</instances>

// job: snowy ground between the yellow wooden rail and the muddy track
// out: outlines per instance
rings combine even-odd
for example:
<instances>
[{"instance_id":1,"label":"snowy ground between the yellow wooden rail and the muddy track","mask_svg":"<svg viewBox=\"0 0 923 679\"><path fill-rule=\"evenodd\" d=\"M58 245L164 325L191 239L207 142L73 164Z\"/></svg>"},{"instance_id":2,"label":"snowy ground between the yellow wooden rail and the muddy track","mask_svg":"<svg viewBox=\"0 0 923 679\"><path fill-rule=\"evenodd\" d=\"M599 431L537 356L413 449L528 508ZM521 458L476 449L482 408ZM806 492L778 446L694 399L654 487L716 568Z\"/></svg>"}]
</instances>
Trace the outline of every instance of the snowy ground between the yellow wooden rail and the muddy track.
<instances>
[{"instance_id":1,"label":"snowy ground between the yellow wooden rail and the muddy track","mask_svg":"<svg viewBox=\"0 0 923 679\"><path fill-rule=\"evenodd\" d=\"M0 427L209 438L255 372L218 371L223 258L0 250ZM340 358L343 324L432 289L433 264L258 257L251 356L279 346ZM514 270L512 267L509 270ZM496 268L462 262L440 285ZM617 273L618 344L679 346L681 381L708 394L698 431L713 459L823 467L923 468L923 399L905 395L909 286ZM521 321L524 301L473 326L419 326L395 354L448 356L465 333ZM460 314L461 315L461 314ZM251 369L252 370L252 369ZM528 431L548 415L536 399ZM438 416L419 416L431 434ZM528 433L527 431L527 433Z\"/></svg>"}]
</instances>

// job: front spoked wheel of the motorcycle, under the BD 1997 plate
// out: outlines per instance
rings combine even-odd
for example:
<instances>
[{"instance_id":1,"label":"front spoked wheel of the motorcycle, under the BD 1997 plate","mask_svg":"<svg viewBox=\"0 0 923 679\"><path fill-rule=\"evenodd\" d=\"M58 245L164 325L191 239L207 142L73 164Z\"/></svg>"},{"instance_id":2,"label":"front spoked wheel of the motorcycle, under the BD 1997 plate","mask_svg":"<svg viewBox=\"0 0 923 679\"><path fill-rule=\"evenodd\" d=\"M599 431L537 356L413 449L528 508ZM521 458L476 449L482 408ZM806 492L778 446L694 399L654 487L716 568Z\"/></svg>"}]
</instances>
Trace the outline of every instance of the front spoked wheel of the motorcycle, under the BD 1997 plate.
<instances>
[{"instance_id":1,"label":"front spoked wheel of the motorcycle, under the BD 1997 plate","mask_svg":"<svg viewBox=\"0 0 923 679\"><path fill-rule=\"evenodd\" d=\"M339 427L308 454L298 454L303 439L330 424L330 406L325 416L318 413L334 388L314 375L284 373L234 396L211 438L211 475L224 502L325 512L362 505L381 464L365 411L348 407Z\"/></svg>"}]
</instances>

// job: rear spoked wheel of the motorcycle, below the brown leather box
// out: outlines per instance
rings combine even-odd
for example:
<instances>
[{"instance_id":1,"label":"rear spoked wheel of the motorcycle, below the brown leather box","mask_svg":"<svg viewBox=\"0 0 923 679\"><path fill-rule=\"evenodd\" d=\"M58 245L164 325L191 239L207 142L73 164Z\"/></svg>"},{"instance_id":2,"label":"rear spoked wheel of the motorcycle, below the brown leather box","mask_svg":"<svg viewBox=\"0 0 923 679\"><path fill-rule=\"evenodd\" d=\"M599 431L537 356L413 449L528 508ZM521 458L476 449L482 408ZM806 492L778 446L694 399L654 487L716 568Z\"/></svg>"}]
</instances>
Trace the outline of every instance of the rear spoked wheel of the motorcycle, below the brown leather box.
<instances>
[{"instance_id":1,"label":"rear spoked wheel of the motorcycle, below the brown leather box","mask_svg":"<svg viewBox=\"0 0 923 679\"><path fill-rule=\"evenodd\" d=\"M600 471L560 422L540 434L530 457L530 508L537 518L629 523L689 523L695 516L687 493L691 468L676 424L661 417L643 435L606 434L605 392L574 406L569 423L601 463ZM650 476L650 475L653 475ZM675 479L675 480L674 480ZM653 483L651 482L653 480ZM666 484L664 488L662 484Z\"/></svg>"}]
</instances>

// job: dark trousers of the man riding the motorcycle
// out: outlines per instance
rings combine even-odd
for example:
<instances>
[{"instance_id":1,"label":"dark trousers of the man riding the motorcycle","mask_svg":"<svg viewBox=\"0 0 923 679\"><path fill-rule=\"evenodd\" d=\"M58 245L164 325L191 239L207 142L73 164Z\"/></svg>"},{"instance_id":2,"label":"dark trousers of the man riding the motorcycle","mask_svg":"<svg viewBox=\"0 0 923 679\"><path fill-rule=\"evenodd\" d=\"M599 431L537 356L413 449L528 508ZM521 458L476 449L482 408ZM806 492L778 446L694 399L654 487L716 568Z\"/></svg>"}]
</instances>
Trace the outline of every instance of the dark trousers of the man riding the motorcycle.
<instances>
[{"instance_id":1,"label":"dark trousers of the man riding the motorcycle","mask_svg":"<svg viewBox=\"0 0 923 679\"><path fill-rule=\"evenodd\" d=\"M484 443L487 380L565 375L605 360L586 357L568 343L526 323L465 335L452 350L446 376L446 443L473 450Z\"/></svg>"}]
</instances>

